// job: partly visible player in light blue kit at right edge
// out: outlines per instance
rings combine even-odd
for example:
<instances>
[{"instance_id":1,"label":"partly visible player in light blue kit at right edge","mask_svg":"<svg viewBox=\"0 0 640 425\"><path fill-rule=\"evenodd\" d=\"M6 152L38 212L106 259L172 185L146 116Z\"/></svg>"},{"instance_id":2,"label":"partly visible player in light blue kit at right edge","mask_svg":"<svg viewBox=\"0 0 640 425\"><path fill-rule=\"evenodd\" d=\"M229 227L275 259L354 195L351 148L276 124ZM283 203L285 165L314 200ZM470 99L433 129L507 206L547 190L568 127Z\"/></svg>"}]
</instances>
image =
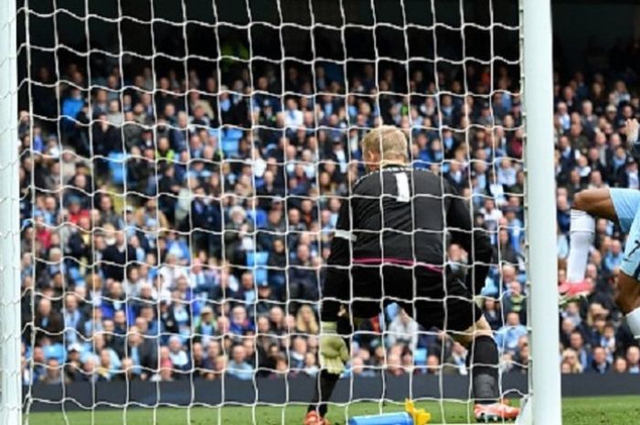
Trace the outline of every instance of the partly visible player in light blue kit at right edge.
<instances>
[{"instance_id":1,"label":"partly visible player in light blue kit at right edge","mask_svg":"<svg viewBox=\"0 0 640 425\"><path fill-rule=\"evenodd\" d=\"M637 120L627 120L626 141L640 153ZM560 284L560 295L571 299L592 290L592 282L584 278L589 250L595 236L594 218L607 218L618 223L628 235L624 259L615 287L615 303L626 318L635 339L640 339L640 191L635 189L589 189L578 193L571 209L571 247L567 259L567 279Z\"/></svg>"}]
</instances>

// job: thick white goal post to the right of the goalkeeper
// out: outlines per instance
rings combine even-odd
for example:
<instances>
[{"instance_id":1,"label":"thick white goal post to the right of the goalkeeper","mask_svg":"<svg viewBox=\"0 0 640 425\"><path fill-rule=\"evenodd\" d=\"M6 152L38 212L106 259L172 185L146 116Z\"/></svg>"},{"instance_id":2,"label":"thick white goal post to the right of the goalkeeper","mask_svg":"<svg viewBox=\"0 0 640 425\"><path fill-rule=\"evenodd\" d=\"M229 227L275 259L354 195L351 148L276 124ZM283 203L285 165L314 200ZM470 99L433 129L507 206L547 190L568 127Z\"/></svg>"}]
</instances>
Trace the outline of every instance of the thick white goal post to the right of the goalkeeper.
<instances>
[{"instance_id":1,"label":"thick white goal post to the right of the goalkeeper","mask_svg":"<svg viewBox=\"0 0 640 425\"><path fill-rule=\"evenodd\" d=\"M522 0L533 423L561 424L551 2Z\"/></svg>"}]
</instances>

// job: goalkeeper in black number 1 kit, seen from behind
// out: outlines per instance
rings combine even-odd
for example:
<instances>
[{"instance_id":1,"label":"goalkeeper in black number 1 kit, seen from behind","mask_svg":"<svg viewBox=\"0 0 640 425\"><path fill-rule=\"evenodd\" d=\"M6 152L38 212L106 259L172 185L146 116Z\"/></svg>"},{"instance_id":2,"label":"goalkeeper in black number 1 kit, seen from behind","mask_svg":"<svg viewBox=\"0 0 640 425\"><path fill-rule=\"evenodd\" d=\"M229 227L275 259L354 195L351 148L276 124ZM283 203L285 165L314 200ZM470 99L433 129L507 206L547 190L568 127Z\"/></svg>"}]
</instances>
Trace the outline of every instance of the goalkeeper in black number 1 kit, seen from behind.
<instances>
[{"instance_id":1,"label":"goalkeeper in black number 1 kit, seen from behind","mask_svg":"<svg viewBox=\"0 0 640 425\"><path fill-rule=\"evenodd\" d=\"M437 327L469 350L478 420L515 419L518 409L499 400L496 342L473 299L492 259L489 238L473 228L466 203L442 176L408 164L407 139L399 129L372 130L362 140L362 151L368 175L340 208L327 260L322 370L304 424L328 424L326 401L349 359L343 335L350 326L341 325L374 317L392 302L424 328ZM447 239L469 253L466 282L443 267Z\"/></svg>"}]
</instances>

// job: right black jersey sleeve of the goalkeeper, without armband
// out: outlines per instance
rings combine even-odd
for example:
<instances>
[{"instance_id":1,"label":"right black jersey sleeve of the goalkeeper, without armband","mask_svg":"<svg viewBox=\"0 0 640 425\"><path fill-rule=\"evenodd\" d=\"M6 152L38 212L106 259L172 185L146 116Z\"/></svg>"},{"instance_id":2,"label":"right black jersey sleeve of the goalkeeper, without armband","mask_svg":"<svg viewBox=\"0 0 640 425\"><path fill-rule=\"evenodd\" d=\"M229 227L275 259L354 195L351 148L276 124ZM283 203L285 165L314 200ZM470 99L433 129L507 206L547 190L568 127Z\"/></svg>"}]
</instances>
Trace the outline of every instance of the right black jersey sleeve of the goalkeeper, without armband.
<instances>
[{"instance_id":1,"label":"right black jersey sleeve of the goalkeeper, without armband","mask_svg":"<svg viewBox=\"0 0 640 425\"><path fill-rule=\"evenodd\" d=\"M481 228L474 228L471 211L467 203L457 196L453 188L449 209L447 211L447 227L451 228L452 242L460 245L469 254L472 270L466 275L467 288L475 293L485 286L489 264L493 258L491 239Z\"/></svg>"}]
</instances>

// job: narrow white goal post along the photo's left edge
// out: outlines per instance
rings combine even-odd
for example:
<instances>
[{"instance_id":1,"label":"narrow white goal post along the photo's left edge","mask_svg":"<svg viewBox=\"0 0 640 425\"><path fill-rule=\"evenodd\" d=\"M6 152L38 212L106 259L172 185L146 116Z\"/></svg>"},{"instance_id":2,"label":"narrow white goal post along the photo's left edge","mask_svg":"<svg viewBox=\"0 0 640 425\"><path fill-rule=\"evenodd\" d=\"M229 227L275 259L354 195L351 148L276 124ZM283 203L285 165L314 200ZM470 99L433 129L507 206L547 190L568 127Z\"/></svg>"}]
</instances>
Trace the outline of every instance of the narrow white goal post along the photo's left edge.
<instances>
[{"instance_id":1,"label":"narrow white goal post along the photo's left edge","mask_svg":"<svg viewBox=\"0 0 640 425\"><path fill-rule=\"evenodd\" d=\"M16 2L0 8L0 422L20 425L20 186Z\"/></svg>"}]
</instances>

